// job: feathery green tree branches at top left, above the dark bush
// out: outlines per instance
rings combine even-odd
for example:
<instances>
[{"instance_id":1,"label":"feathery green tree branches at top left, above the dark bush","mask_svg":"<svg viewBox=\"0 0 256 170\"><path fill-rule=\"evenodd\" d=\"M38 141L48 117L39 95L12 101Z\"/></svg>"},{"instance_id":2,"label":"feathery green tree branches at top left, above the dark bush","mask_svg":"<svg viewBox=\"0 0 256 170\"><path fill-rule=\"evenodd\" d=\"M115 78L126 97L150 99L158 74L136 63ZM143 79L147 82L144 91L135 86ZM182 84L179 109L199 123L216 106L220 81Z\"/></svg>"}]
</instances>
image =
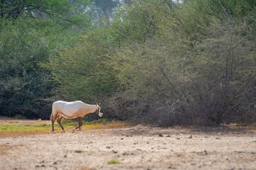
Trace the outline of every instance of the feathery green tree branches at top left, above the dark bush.
<instances>
[{"instance_id":1,"label":"feathery green tree branches at top left, above the dark bush","mask_svg":"<svg viewBox=\"0 0 256 170\"><path fill-rule=\"evenodd\" d=\"M50 18L63 26L87 26L90 18L82 7L89 2L89 0L2 0L0 16L6 19L25 15L31 18Z\"/></svg>"}]
</instances>

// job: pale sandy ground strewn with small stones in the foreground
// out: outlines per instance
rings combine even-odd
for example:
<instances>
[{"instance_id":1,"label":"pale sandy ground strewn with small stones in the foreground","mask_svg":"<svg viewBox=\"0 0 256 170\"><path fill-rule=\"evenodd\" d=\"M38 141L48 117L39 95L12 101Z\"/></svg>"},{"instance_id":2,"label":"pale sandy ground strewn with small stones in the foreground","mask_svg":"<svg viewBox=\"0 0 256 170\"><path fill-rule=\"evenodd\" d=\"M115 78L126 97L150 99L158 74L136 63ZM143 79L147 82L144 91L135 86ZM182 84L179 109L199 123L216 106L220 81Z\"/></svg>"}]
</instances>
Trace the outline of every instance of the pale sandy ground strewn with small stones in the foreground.
<instances>
[{"instance_id":1,"label":"pale sandy ground strewn with small stones in the foreground","mask_svg":"<svg viewBox=\"0 0 256 170\"><path fill-rule=\"evenodd\" d=\"M256 131L137 125L2 137L0 169L256 169Z\"/></svg>"}]
</instances>

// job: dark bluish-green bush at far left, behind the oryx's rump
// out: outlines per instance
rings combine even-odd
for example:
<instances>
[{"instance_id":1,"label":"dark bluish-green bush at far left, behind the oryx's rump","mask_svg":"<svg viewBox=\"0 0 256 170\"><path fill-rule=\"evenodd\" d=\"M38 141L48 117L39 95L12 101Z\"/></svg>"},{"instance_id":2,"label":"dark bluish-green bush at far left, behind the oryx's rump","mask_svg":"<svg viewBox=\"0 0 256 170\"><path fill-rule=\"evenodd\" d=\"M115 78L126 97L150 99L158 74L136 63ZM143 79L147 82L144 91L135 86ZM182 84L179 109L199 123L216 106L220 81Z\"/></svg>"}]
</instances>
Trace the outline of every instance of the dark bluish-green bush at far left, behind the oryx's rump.
<instances>
[{"instance_id":1,"label":"dark bluish-green bush at far left, behind the oryx's rump","mask_svg":"<svg viewBox=\"0 0 256 170\"><path fill-rule=\"evenodd\" d=\"M1 115L47 118L46 98L52 96L50 72L39 66L71 42L61 27L47 21L18 18L1 22L0 111Z\"/></svg>"}]
</instances>

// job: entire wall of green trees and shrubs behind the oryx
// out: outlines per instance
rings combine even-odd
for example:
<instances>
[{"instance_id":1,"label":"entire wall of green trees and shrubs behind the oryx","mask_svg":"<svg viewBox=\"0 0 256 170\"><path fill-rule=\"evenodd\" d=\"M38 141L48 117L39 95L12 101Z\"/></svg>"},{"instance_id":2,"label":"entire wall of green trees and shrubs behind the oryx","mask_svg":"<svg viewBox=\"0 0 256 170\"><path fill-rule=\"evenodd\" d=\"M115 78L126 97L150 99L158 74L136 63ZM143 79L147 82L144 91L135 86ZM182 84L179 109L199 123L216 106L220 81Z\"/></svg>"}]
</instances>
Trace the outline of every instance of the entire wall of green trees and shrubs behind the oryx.
<instances>
[{"instance_id":1,"label":"entire wall of green trees and shrubs behind the oryx","mask_svg":"<svg viewBox=\"0 0 256 170\"><path fill-rule=\"evenodd\" d=\"M255 40L254 0L1 0L0 115L80 100L153 125L255 123Z\"/></svg>"}]
</instances>

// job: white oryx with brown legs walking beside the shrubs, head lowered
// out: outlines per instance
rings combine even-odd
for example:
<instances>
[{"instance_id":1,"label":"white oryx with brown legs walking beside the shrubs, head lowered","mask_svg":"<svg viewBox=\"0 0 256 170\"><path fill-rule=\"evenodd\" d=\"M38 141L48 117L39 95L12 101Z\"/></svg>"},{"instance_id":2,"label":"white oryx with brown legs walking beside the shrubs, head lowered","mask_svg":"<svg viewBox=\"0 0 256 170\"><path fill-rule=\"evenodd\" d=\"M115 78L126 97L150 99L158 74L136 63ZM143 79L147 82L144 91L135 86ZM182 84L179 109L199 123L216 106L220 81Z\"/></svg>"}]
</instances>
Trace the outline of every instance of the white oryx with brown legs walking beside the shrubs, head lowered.
<instances>
[{"instance_id":1,"label":"white oryx with brown legs walking beside the shrubs, head lowered","mask_svg":"<svg viewBox=\"0 0 256 170\"><path fill-rule=\"evenodd\" d=\"M83 103L82 101L73 101L73 102L66 102L66 101L55 101L53 103L53 111L50 115L50 120L52 120L52 128L54 126L54 122L58 117L58 124L60 128L65 132L63 126L60 124L60 120L62 118L78 118L78 126L75 129L82 126L82 118L89 113L97 113L100 117L102 117L103 113L100 112L100 106L98 104L90 105ZM54 132L54 128L53 128Z\"/></svg>"}]
</instances>

